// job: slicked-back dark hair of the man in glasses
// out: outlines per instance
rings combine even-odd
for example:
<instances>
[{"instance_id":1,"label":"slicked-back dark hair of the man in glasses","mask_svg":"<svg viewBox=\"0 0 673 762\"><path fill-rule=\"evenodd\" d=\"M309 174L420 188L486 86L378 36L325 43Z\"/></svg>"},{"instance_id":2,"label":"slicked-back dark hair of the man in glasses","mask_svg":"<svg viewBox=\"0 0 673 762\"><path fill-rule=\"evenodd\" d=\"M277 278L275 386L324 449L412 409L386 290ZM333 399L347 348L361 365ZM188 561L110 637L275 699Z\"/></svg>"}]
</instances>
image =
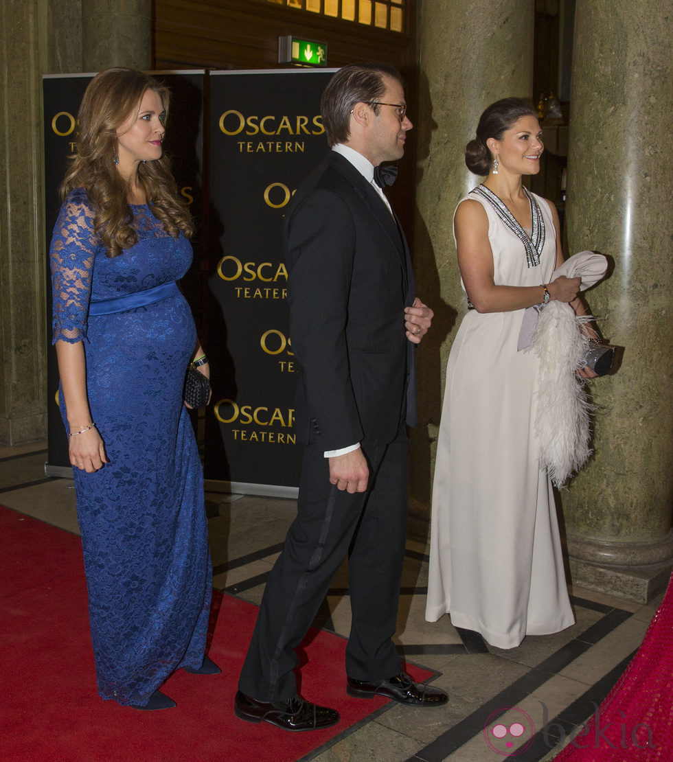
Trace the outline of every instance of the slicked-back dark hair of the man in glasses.
<instances>
[{"instance_id":1,"label":"slicked-back dark hair of the man in glasses","mask_svg":"<svg viewBox=\"0 0 673 762\"><path fill-rule=\"evenodd\" d=\"M351 111L356 103L371 104L383 98L386 91L384 76L403 85L394 66L376 62L349 63L330 79L320 101L322 124L330 146L346 142L350 137ZM372 108L379 114L380 106L373 105Z\"/></svg>"}]
</instances>

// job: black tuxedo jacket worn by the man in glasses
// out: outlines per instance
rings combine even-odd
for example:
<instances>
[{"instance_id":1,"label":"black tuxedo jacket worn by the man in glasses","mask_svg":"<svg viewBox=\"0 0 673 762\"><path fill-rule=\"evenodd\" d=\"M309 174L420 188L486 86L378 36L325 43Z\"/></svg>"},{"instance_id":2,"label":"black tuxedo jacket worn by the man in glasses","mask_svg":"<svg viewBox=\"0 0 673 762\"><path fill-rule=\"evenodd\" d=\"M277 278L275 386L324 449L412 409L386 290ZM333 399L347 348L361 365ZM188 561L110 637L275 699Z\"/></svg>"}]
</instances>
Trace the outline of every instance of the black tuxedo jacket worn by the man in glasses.
<instances>
[{"instance_id":1,"label":"black tuxedo jacket worn by the man in glasses","mask_svg":"<svg viewBox=\"0 0 673 762\"><path fill-rule=\"evenodd\" d=\"M331 151L290 202L284 253L300 441L322 450L392 441L405 412L415 424L415 346L404 326L415 282L396 219Z\"/></svg>"}]
</instances>

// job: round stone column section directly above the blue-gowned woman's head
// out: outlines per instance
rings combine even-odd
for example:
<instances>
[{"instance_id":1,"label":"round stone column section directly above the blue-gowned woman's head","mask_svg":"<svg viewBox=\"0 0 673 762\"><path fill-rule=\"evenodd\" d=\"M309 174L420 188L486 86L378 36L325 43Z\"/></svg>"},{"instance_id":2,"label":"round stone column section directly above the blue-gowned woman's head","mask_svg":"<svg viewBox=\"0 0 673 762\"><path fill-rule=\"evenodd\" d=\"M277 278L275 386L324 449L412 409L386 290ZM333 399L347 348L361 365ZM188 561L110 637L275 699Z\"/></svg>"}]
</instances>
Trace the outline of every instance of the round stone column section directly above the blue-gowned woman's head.
<instances>
[{"instance_id":1,"label":"round stone column section directly above the blue-gowned woman's head","mask_svg":"<svg viewBox=\"0 0 673 762\"><path fill-rule=\"evenodd\" d=\"M152 66L151 0L86 0L82 3L85 72L111 66Z\"/></svg>"}]
</instances>

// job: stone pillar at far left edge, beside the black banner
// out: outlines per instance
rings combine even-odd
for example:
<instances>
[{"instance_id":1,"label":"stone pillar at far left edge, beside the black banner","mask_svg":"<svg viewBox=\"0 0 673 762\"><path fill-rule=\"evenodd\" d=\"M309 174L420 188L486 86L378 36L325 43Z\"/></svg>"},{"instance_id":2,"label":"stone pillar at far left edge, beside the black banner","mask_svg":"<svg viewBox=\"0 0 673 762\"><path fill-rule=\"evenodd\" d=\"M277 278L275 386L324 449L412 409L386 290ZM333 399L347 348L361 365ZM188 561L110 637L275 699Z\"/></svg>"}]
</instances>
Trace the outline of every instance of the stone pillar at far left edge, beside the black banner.
<instances>
[{"instance_id":1,"label":"stone pillar at far left edge, beside the black banner","mask_svg":"<svg viewBox=\"0 0 673 762\"><path fill-rule=\"evenodd\" d=\"M0 3L0 443L46 432L46 331L38 0Z\"/></svg>"}]
</instances>

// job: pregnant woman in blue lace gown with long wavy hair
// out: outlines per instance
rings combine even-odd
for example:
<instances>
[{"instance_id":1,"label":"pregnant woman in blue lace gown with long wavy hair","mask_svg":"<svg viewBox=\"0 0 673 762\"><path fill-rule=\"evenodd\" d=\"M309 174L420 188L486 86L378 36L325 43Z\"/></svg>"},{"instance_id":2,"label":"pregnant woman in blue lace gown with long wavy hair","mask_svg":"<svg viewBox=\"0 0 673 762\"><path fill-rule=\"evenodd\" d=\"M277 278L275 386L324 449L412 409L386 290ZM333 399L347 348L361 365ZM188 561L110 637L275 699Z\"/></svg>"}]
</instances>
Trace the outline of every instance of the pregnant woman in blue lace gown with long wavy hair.
<instances>
[{"instance_id":1,"label":"pregnant woman in blue lace gown with long wavy hair","mask_svg":"<svg viewBox=\"0 0 673 762\"><path fill-rule=\"evenodd\" d=\"M182 399L188 363L209 367L175 283L193 228L162 157L167 109L142 72L91 81L51 243L98 692L137 709L175 706L159 687L178 668L219 671L204 657L204 483Z\"/></svg>"}]
</instances>

